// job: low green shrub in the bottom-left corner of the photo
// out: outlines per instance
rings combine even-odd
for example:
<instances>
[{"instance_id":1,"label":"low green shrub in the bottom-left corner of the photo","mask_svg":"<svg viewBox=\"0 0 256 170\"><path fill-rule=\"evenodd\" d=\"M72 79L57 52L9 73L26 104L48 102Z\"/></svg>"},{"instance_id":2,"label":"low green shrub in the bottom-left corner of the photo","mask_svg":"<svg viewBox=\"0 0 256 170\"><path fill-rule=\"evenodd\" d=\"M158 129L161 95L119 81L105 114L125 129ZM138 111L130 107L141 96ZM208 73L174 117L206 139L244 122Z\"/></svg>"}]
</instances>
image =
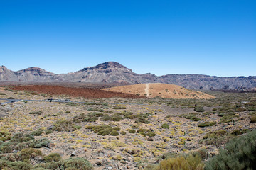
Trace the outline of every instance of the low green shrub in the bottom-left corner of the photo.
<instances>
[{"instance_id":1,"label":"low green shrub in the bottom-left corner of the photo","mask_svg":"<svg viewBox=\"0 0 256 170\"><path fill-rule=\"evenodd\" d=\"M31 166L28 165L26 162L21 162L21 161L10 162L10 161L0 159L0 169L29 170L31 169Z\"/></svg>"}]
</instances>

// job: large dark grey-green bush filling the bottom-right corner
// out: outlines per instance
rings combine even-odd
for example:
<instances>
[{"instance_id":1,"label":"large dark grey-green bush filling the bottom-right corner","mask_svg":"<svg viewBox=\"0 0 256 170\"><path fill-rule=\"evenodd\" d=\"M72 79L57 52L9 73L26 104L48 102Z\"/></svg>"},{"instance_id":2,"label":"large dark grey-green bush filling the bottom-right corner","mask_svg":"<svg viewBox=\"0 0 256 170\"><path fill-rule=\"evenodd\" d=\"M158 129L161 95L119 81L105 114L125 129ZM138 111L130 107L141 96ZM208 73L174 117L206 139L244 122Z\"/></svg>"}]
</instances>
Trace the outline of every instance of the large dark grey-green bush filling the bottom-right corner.
<instances>
[{"instance_id":1,"label":"large dark grey-green bush filling the bottom-right corner","mask_svg":"<svg viewBox=\"0 0 256 170\"><path fill-rule=\"evenodd\" d=\"M225 149L206 162L206 170L256 169L256 130L231 140Z\"/></svg>"}]
</instances>

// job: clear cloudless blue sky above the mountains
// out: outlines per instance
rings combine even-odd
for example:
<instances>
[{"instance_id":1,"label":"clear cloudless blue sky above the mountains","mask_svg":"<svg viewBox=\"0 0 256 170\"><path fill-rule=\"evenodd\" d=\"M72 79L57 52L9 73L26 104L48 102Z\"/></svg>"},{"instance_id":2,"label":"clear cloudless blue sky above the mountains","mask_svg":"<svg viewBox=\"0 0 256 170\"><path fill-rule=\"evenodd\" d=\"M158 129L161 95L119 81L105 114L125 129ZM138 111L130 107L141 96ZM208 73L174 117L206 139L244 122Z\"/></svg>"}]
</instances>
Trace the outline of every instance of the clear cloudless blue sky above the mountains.
<instances>
[{"instance_id":1,"label":"clear cloudless blue sky above the mountains","mask_svg":"<svg viewBox=\"0 0 256 170\"><path fill-rule=\"evenodd\" d=\"M255 0L0 0L0 65L256 75Z\"/></svg>"}]
</instances>

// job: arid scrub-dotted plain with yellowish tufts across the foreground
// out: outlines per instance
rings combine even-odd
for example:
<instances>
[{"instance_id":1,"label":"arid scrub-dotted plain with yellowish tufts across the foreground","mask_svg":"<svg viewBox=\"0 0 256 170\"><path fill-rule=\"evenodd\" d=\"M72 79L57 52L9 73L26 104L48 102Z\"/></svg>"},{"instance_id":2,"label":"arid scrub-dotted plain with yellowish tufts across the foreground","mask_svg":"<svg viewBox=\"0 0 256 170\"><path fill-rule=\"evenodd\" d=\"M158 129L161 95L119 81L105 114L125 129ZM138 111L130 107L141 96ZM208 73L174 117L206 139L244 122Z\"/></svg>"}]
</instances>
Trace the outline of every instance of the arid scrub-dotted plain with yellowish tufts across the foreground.
<instances>
[{"instance_id":1,"label":"arid scrub-dotted plain with yellowish tufts across the foreground","mask_svg":"<svg viewBox=\"0 0 256 170\"><path fill-rule=\"evenodd\" d=\"M26 162L29 169L47 169L46 156L53 153L61 159L83 157L94 169L145 169L166 155L188 152L200 152L206 160L228 140L256 127L256 93L204 91L215 96L211 99L86 98L65 90L14 89L0 87L0 98L21 99L0 106L0 158ZM51 98L65 102L47 101ZM34 138L11 144L17 133ZM23 159L26 148L42 154Z\"/></svg>"}]
</instances>

